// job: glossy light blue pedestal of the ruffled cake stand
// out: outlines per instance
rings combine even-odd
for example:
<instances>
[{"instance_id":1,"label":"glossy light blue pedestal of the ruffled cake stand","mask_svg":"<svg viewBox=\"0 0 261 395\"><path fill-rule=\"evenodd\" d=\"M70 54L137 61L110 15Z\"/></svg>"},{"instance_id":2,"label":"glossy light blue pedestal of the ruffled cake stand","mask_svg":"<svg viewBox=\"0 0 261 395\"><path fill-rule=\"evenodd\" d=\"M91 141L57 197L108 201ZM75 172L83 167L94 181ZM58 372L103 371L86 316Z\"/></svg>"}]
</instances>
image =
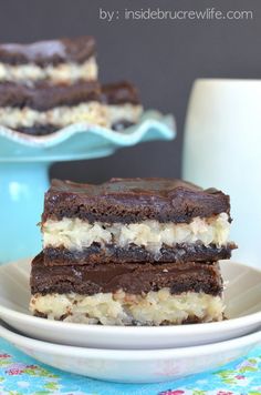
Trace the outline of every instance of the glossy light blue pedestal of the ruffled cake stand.
<instances>
[{"instance_id":1,"label":"glossy light blue pedestal of the ruffled cake stand","mask_svg":"<svg viewBox=\"0 0 261 395\"><path fill-rule=\"evenodd\" d=\"M40 251L36 224L49 188L51 163L0 163L0 262Z\"/></svg>"}]
</instances>

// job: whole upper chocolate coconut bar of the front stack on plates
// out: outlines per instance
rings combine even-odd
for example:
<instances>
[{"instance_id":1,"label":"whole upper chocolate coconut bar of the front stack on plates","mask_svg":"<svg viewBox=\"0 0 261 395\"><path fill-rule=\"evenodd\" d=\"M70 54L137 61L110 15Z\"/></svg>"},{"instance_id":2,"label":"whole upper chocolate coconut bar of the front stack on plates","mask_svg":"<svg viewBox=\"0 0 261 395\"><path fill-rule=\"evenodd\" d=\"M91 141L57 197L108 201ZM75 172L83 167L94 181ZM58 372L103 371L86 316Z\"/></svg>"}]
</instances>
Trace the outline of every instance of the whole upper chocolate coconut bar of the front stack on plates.
<instances>
[{"instance_id":1,"label":"whole upper chocolate coconut bar of the front stack on plates","mask_svg":"<svg viewBox=\"0 0 261 395\"><path fill-rule=\"evenodd\" d=\"M44 264L229 259L229 196L178 180L53 181L42 216Z\"/></svg>"}]
</instances>

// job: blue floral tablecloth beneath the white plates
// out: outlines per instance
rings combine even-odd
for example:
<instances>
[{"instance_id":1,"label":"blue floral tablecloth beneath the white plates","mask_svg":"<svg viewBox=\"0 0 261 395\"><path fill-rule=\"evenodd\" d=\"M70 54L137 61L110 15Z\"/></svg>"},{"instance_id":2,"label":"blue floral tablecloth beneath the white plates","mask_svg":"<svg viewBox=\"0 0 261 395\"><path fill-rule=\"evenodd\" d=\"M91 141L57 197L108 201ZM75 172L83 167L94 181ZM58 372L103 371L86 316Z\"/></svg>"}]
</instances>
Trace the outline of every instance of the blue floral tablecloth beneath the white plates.
<instances>
[{"instance_id":1,"label":"blue floral tablecloth beneath the white plates","mask_svg":"<svg viewBox=\"0 0 261 395\"><path fill-rule=\"evenodd\" d=\"M218 371L160 384L114 384L38 363L0 340L0 395L261 395L261 347Z\"/></svg>"}]
</instances>

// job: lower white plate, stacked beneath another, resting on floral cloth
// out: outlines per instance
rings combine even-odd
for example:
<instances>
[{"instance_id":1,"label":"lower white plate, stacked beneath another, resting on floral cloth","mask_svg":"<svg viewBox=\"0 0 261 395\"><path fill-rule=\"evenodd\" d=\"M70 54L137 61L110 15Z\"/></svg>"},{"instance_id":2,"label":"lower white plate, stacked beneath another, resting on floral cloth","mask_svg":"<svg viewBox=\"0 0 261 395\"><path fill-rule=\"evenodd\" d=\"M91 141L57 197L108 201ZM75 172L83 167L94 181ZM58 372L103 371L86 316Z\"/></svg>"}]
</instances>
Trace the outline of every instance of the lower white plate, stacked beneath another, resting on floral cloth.
<instances>
[{"instance_id":1,"label":"lower white plate, stacked beneath another, resting on floral cloth","mask_svg":"<svg viewBox=\"0 0 261 395\"><path fill-rule=\"evenodd\" d=\"M0 325L0 336L48 365L123 383L156 383L217 368L261 343L261 331L209 345L168 350L96 350L45 343Z\"/></svg>"}]
</instances>

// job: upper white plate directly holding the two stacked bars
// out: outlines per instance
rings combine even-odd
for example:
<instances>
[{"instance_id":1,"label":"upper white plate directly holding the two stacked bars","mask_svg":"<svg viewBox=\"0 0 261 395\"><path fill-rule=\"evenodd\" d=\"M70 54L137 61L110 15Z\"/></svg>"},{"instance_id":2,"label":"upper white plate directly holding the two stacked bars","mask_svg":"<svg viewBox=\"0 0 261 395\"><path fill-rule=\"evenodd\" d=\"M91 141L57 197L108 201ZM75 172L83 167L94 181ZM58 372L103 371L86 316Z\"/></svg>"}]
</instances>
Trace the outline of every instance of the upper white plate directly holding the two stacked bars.
<instances>
[{"instance_id":1,"label":"upper white plate directly holding the two stacked bars","mask_svg":"<svg viewBox=\"0 0 261 395\"><path fill-rule=\"evenodd\" d=\"M222 262L228 321L182 326L102 326L49 321L28 311L30 263L20 261L0 267L0 317L15 330L53 343L96 348L168 348L242 336L261 325L261 272Z\"/></svg>"}]
</instances>

